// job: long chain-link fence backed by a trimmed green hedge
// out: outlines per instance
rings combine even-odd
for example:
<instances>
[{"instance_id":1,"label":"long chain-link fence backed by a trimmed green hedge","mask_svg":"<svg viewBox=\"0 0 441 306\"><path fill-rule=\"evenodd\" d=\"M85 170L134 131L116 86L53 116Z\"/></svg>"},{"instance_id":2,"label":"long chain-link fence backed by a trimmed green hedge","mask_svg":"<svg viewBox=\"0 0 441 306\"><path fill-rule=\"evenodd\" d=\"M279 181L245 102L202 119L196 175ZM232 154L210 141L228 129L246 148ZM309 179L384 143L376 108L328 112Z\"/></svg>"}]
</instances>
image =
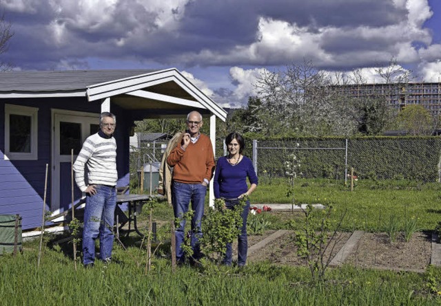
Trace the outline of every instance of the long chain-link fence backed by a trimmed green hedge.
<instances>
[{"instance_id":1,"label":"long chain-link fence backed by a trimmed green hedge","mask_svg":"<svg viewBox=\"0 0 441 306\"><path fill-rule=\"evenodd\" d=\"M159 168L166 147L167 142L151 142L132 149L131 188L141 186L142 172L144 190L148 190L152 181L152 188L156 187L158 174L152 173ZM225 153L223 140L217 140L216 157ZM285 162L294 154L300 161L300 177L345 180L353 167L360 178L439 182L440 153L441 138L438 137L246 139L243 151L253 160L256 173L263 181L286 177Z\"/></svg>"}]
</instances>

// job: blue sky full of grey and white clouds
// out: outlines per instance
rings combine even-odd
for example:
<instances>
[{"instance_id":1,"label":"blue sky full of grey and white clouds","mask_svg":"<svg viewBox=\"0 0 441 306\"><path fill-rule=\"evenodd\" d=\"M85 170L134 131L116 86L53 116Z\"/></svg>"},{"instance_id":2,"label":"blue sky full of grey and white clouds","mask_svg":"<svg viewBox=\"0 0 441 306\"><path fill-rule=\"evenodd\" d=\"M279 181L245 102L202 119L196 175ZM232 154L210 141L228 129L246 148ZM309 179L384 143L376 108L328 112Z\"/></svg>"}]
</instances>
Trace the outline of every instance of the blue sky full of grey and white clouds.
<instances>
[{"instance_id":1,"label":"blue sky full of grey and white clouds","mask_svg":"<svg viewBox=\"0 0 441 306\"><path fill-rule=\"evenodd\" d=\"M362 69L392 57L441 79L441 0L0 0L22 70L176 67L224 107L267 69Z\"/></svg>"}]
</instances>

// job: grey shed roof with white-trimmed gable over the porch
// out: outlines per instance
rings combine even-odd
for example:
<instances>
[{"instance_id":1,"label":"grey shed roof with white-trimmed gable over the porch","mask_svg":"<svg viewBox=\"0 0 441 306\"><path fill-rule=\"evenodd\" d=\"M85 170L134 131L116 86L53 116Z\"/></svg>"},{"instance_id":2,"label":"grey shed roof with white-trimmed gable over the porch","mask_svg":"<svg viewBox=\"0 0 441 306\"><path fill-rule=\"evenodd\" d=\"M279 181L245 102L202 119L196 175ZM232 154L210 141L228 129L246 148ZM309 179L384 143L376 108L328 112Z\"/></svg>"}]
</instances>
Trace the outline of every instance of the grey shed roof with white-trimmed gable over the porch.
<instances>
[{"instance_id":1,"label":"grey shed roof with white-trimmed gable over the porch","mask_svg":"<svg viewBox=\"0 0 441 306\"><path fill-rule=\"evenodd\" d=\"M127 109L198 108L225 121L227 112L178 69L1 72L0 98L111 98Z\"/></svg>"}]
</instances>

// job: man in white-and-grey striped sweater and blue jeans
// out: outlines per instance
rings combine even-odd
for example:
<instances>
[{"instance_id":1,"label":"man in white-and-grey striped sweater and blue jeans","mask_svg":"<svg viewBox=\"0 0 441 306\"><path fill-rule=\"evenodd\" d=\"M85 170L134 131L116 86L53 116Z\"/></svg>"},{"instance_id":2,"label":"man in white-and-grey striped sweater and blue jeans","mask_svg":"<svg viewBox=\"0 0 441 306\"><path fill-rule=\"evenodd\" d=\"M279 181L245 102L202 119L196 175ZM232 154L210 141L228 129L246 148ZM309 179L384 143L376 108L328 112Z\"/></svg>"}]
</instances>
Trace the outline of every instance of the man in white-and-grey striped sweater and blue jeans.
<instances>
[{"instance_id":1,"label":"man in white-and-grey striped sweater and blue jeans","mask_svg":"<svg viewBox=\"0 0 441 306\"><path fill-rule=\"evenodd\" d=\"M95 240L99 237L102 261L112 259L113 226L116 207L116 127L114 114L104 112L99 118L100 130L85 140L74 162L75 182L85 193L83 229L83 265L95 261Z\"/></svg>"}]
</instances>

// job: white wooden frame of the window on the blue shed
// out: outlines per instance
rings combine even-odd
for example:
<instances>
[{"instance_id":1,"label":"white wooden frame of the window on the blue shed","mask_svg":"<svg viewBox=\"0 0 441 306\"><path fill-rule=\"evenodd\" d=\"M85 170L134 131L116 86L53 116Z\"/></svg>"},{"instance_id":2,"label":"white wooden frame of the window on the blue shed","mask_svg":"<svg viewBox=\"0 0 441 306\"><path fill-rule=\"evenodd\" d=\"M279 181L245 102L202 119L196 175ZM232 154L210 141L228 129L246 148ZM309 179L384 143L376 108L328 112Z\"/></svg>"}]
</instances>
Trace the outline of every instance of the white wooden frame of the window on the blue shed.
<instances>
[{"instance_id":1,"label":"white wooden frame of the window on the blue shed","mask_svg":"<svg viewBox=\"0 0 441 306\"><path fill-rule=\"evenodd\" d=\"M5 160L38 160L38 111L37 107L25 107L22 105L5 105ZM30 153L10 152L10 115L30 117Z\"/></svg>"}]
</instances>

